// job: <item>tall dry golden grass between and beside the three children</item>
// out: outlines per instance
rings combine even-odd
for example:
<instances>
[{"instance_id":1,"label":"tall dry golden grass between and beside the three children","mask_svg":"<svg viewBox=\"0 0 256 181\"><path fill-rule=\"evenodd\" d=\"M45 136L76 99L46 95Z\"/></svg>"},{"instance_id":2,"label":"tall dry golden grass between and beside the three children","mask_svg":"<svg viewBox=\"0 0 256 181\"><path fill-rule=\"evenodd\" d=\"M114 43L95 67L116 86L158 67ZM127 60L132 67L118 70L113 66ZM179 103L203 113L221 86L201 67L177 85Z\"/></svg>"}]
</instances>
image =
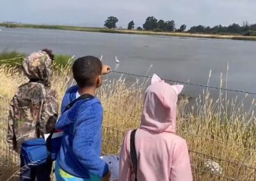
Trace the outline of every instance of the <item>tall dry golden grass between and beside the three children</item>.
<instances>
[{"instance_id":1,"label":"tall dry golden grass between and beside the three children","mask_svg":"<svg viewBox=\"0 0 256 181\"><path fill-rule=\"evenodd\" d=\"M60 102L65 90L74 84L70 77L70 63L57 66L52 77L52 88L58 92ZM17 69L8 66L0 67L0 76L0 95L7 98L12 98L17 87L28 81ZM221 81L223 87L222 84ZM125 78L120 76L116 80L104 80L98 90L97 95L104 106L104 154L118 154L125 132L139 126L144 85L140 81L127 85ZM243 102L247 98L248 95L242 99L228 99L228 92L223 91L218 98L212 98L211 91L205 89L193 102L186 97L180 99L177 134L186 138L192 151L191 164L197 168L194 170L195 180L213 178L211 174L202 175L202 170L198 173L204 168L205 159L221 165L222 176L216 176L217 180L222 177L235 180L253 178L253 169L250 171L244 166L256 167L256 102L252 99L251 107L245 111Z\"/></svg>"}]
</instances>

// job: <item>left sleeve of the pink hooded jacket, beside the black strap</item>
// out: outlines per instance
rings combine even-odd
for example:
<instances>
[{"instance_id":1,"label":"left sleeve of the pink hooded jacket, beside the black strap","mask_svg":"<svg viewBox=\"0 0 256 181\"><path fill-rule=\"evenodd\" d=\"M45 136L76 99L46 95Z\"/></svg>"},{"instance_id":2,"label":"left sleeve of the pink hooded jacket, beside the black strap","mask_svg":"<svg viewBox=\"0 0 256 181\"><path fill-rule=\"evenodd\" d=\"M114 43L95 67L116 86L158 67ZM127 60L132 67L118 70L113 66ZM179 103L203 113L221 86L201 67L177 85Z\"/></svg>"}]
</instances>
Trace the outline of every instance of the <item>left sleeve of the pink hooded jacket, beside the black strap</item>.
<instances>
[{"instance_id":1,"label":"left sleeve of the pink hooded jacket, beside the black strap","mask_svg":"<svg viewBox=\"0 0 256 181\"><path fill-rule=\"evenodd\" d=\"M119 165L119 181L129 181L131 180L132 175L132 165L130 158L130 135L131 131L129 131L125 138L124 143L122 145L122 149L120 152L120 165Z\"/></svg>"}]
</instances>

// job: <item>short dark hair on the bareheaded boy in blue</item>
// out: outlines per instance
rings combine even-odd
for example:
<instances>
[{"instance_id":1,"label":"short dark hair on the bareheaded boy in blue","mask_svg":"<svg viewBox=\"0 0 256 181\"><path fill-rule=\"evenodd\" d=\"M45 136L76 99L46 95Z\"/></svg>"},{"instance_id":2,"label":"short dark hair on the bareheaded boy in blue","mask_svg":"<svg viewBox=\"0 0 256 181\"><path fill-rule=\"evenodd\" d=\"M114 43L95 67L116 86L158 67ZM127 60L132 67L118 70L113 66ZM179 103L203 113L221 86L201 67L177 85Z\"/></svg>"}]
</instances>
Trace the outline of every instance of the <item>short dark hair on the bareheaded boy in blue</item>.
<instances>
[{"instance_id":1,"label":"short dark hair on the bareheaded boy in blue","mask_svg":"<svg viewBox=\"0 0 256 181\"><path fill-rule=\"evenodd\" d=\"M74 61L72 71L79 87L90 87L95 84L95 78L102 74L102 62L93 56L81 57Z\"/></svg>"}]
</instances>

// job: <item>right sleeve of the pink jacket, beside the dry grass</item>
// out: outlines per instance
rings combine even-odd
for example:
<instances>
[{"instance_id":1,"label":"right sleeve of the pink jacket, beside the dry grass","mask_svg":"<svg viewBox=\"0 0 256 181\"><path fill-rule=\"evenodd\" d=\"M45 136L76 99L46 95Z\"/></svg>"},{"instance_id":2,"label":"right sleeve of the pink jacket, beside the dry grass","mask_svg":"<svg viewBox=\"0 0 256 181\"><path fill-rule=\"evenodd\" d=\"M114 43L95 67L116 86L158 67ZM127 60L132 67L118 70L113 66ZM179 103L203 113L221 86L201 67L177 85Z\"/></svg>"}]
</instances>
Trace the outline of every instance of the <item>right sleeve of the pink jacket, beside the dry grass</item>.
<instances>
[{"instance_id":1,"label":"right sleeve of the pink jacket, beside the dry grass","mask_svg":"<svg viewBox=\"0 0 256 181\"><path fill-rule=\"evenodd\" d=\"M189 161L188 146L186 141L182 141L177 145L173 154L172 163L172 181L191 181L193 180L191 166Z\"/></svg>"}]
</instances>

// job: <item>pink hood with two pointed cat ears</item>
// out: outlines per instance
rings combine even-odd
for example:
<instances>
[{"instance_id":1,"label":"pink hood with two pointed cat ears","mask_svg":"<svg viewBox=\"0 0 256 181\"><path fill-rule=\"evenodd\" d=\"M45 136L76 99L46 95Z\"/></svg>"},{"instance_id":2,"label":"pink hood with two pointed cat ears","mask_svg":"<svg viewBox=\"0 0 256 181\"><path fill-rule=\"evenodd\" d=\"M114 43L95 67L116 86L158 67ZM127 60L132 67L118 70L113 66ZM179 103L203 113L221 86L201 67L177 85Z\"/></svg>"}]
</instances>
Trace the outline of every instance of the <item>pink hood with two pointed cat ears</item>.
<instances>
[{"instance_id":1,"label":"pink hood with two pointed cat ears","mask_svg":"<svg viewBox=\"0 0 256 181\"><path fill-rule=\"evenodd\" d=\"M170 85L153 75L145 95L140 129L176 133L176 107L183 85Z\"/></svg>"}]
</instances>

